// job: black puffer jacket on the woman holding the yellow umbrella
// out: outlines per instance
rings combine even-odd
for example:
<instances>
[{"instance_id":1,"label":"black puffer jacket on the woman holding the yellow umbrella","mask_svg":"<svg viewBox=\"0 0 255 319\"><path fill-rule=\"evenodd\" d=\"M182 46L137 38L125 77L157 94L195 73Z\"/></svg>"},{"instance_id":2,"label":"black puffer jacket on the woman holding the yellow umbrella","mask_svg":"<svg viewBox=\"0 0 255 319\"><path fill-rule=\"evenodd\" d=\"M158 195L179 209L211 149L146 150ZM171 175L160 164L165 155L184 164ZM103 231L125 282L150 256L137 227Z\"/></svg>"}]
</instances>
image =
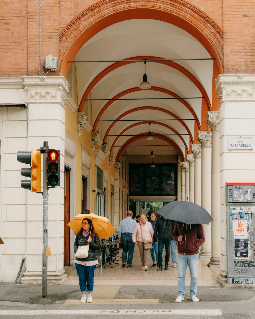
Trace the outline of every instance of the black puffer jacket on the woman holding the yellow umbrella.
<instances>
[{"instance_id":1,"label":"black puffer jacket on the woman holding the yellow umbrella","mask_svg":"<svg viewBox=\"0 0 255 319\"><path fill-rule=\"evenodd\" d=\"M80 232L76 235L75 241L74 241L74 253L77 252L78 246L84 246L88 243L88 238L84 237L83 235L80 235ZM87 258L75 258L76 260L80 261L93 261L97 259L96 250L99 250L101 248L100 246L100 240L98 238L98 234L95 232L91 232L91 242L89 247L89 256Z\"/></svg>"}]
</instances>

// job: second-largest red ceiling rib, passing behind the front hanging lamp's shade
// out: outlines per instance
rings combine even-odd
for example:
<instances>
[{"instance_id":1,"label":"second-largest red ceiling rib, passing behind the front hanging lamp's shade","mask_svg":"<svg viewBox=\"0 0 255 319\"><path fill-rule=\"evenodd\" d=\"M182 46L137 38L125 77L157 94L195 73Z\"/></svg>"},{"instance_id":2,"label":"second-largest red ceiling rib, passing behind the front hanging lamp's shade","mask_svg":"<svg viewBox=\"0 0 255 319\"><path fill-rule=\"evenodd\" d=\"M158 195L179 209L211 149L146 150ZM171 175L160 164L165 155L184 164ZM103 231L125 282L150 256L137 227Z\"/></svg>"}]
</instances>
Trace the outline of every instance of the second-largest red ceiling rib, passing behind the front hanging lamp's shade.
<instances>
[{"instance_id":1,"label":"second-largest red ceiling rib, passing behind the front hanging lamp's shade","mask_svg":"<svg viewBox=\"0 0 255 319\"><path fill-rule=\"evenodd\" d=\"M163 93L166 93L166 94L169 94L173 97L176 97L176 98L179 98L179 95L169 91L169 90L166 90L166 89L163 89L163 88L160 88L160 87L157 87L157 86L152 86L149 90L151 91L158 91L158 92L163 92ZM113 97L113 99L119 99L121 98L122 96L128 94L128 93L132 93L132 92L137 92L137 91L142 91L142 89L140 89L139 87L133 87L131 89L128 89L126 91L123 91L117 95L115 95ZM179 100L184 106L186 106L186 108L191 112L191 114L194 116L195 118L195 121L197 123L197 126L199 128L199 130L201 129L201 125L200 125L200 122L199 122L199 119L195 113L195 111L193 110L193 108L184 100ZM96 127L98 125L98 120L99 118L103 115L104 111L113 103L114 101L108 101L102 108L101 110L99 111L95 121L94 121L94 124L93 124L93 130L95 131L96 130Z\"/></svg>"}]
</instances>

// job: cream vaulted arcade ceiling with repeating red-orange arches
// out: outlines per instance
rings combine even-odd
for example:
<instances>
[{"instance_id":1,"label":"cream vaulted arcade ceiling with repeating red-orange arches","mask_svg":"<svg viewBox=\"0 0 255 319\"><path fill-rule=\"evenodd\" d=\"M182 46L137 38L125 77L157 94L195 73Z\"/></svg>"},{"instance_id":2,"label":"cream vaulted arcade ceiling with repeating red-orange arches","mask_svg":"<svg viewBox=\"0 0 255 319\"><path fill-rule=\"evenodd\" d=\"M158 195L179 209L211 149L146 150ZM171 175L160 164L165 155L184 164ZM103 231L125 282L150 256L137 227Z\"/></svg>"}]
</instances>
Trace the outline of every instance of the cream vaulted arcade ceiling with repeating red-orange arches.
<instances>
[{"instance_id":1,"label":"cream vaulted arcade ceiling with repeating red-orange arches","mask_svg":"<svg viewBox=\"0 0 255 319\"><path fill-rule=\"evenodd\" d=\"M138 155L149 162L152 147L155 163L169 162L169 155L177 154L184 160L212 109L212 58L203 43L171 23L115 23L75 56L79 111L90 105L93 130L117 161L125 151L131 162ZM150 89L139 88L144 59ZM153 141L146 139L149 123Z\"/></svg>"}]
</instances>

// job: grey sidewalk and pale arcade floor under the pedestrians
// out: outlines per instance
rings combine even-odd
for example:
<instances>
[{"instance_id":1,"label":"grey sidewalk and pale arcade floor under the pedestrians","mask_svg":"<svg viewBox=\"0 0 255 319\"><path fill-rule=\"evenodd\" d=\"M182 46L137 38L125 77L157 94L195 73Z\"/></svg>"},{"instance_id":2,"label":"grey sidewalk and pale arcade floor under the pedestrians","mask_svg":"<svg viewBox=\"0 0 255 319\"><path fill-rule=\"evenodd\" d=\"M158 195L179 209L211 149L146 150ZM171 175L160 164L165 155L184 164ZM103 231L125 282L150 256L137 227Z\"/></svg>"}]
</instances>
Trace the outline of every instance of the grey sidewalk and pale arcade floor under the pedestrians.
<instances>
[{"instance_id":1,"label":"grey sidewalk and pale arcade floor under the pedestrians","mask_svg":"<svg viewBox=\"0 0 255 319\"><path fill-rule=\"evenodd\" d=\"M200 300L235 300L240 288L222 288L217 282L219 268L207 266L209 258L199 259L198 297ZM164 255L163 255L164 262ZM177 296L177 268L172 268L170 257L169 271L150 268L142 271L138 248L135 247L133 268L113 264L113 268L97 268L94 278L92 304L140 303L158 304L174 302ZM48 285L47 299L42 299L42 285L0 284L0 305L9 302L27 304L80 304L79 280L75 267L65 267L68 279L63 285ZM186 285L190 284L189 270ZM138 287L139 286L139 287ZM230 293L231 291L231 293ZM153 293L152 293L153 292ZM242 300L253 297L253 289L242 290ZM186 300L189 301L188 291ZM209 299L208 299L209 298ZM215 299L216 298L216 299ZM224 299L225 298L225 299ZM244 299L243 299L244 298Z\"/></svg>"}]
</instances>

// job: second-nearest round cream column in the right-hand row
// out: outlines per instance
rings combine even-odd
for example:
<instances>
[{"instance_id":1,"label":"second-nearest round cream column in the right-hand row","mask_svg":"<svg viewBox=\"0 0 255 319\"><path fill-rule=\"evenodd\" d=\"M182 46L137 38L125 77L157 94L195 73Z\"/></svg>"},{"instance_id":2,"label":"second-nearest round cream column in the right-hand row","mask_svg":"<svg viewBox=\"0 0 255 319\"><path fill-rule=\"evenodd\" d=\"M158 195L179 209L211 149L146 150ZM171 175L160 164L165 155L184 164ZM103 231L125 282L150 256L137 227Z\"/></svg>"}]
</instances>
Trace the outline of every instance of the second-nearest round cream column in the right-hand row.
<instances>
[{"instance_id":1,"label":"second-nearest round cream column in the right-hand row","mask_svg":"<svg viewBox=\"0 0 255 319\"><path fill-rule=\"evenodd\" d=\"M197 139L201 144L201 206L211 215L212 201L212 135L210 131L198 131ZM205 243L201 246L201 256L210 256L212 249L212 228L209 225L203 224L205 232Z\"/></svg>"}]
</instances>

